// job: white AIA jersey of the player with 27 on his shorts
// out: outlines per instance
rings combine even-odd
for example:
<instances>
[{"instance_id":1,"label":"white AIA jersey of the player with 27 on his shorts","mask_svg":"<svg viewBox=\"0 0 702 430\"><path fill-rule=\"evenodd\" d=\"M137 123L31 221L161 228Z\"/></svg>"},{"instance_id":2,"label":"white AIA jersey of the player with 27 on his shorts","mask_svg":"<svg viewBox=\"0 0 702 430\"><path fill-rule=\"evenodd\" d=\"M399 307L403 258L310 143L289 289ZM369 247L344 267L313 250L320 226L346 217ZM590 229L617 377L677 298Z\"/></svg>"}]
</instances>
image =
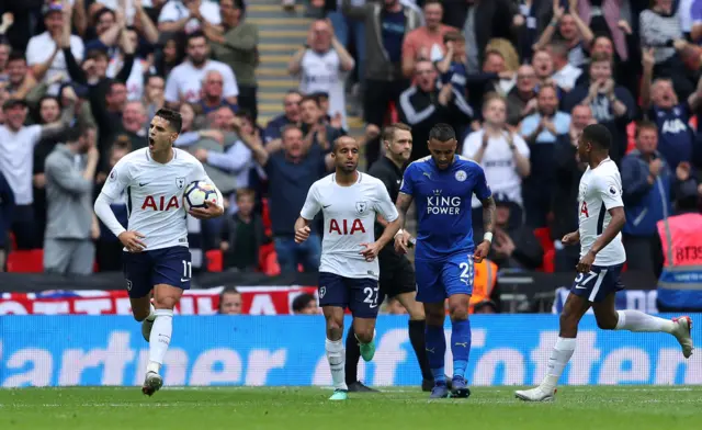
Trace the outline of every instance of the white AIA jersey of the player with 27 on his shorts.
<instances>
[{"instance_id":1,"label":"white AIA jersey of the player with 27 on his shorts","mask_svg":"<svg viewBox=\"0 0 702 430\"><path fill-rule=\"evenodd\" d=\"M299 215L313 219L319 211L325 217L320 272L344 278L378 279L377 258L365 261L361 244L373 244L376 214L388 223L397 219L397 210L383 182L359 172L351 186L341 186L331 173L315 182Z\"/></svg>"}]
</instances>

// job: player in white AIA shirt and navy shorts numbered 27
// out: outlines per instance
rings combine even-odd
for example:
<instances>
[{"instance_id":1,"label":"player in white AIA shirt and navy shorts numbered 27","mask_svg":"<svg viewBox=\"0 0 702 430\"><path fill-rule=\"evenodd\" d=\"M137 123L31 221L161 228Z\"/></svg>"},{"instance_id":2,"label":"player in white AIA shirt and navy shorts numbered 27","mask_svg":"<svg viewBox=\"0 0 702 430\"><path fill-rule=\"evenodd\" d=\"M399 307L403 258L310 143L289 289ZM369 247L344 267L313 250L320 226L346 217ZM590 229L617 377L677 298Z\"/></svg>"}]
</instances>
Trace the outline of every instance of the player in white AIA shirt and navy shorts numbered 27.
<instances>
[{"instance_id":1,"label":"player in white AIA shirt and navy shorts numbered 27","mask_svg":"<svg viewBox=\"0 0 702 430\"><path fill-rule=\"evenodd\" d=\"M375 318L380 303L376 259L399 230L399 216L380 179L356 170L360 147L349 136L335 142L331 157L336 172L315 182L295 222L295 241L309 237L309 224L322 212L325 234L319 264L319 305L327 321L325 349L335 392L330 400L346 400L343 312L353 314L353 330L363 360L375 354ZM375 240L374 224L382 215L388 224Z\"/></svg>"}]
</instances>

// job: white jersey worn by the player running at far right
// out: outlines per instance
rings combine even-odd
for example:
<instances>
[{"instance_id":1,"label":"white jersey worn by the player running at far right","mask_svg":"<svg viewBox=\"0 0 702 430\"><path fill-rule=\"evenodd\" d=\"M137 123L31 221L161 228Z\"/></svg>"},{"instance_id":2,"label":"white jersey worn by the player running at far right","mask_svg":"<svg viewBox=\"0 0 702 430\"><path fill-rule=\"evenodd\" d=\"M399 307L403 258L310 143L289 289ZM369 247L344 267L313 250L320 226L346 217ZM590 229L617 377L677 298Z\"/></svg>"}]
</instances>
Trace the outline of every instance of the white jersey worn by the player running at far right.
<instances>
[{"instance_id":1,"label":"white jersey worn by the player running at far right","mask_svg":"<svg viewBox=\"0 0 702 430\"><path fill-rule=\"evenodd\" d=\"M584 257L612 220L608 212L623 207L622 178L614 161L603 160L597 168L587 170L580 178L578 191L578 218L580 230L580 257ZM596 265L615 265L626 261L622 234L616 235L595 258Z\"/></svg>"}]
</instances>

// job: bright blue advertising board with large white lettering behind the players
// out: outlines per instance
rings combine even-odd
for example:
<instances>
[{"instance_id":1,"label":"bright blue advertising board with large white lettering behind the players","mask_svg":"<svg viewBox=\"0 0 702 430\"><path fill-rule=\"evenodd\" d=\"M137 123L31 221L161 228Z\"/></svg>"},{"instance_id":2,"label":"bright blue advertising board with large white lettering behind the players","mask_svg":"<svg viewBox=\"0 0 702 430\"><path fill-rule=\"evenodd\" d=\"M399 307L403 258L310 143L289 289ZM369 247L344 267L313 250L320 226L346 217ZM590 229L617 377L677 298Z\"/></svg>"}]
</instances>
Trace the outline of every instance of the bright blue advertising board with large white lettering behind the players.
<instances>
[{"instance_id":1,"label":"bright blue advertising board with large white lettering behind the players","mask_svg":"<svg viewBox=\"0 0 702 430\"><path fill-rule=\"evenodd\" d=\"M693 315L702 320L702 314ZM350 322L347 319L347 325ZM473 385L541 381L557 337L555 315L475 315L467 377ZM162 374L166 385L330 385L320 316L179 316ZM450 326L446 325L450 337ZM695 328L693 338L700 339ZM450 343L449 343L450 344ZM148 358L140 326L126 316L3 316L3 387L139 385ZM451 374L451 352L446 357ZM418 385L407 317L382 316L377 352L361 363L376 386ZM605 332L586 316L563 383L702 384L702 353L684 360L661 333Z\"/></svg>"}]
</instances>

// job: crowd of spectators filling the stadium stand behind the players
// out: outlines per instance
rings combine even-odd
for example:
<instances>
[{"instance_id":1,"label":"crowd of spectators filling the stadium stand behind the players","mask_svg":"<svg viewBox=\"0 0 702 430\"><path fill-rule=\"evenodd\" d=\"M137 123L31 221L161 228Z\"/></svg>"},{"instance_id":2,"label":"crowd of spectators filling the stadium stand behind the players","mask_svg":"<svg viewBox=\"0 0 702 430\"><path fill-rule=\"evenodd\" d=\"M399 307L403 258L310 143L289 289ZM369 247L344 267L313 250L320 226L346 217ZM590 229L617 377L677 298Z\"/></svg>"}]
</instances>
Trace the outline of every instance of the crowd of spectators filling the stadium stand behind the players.
<instances>
[{"instance_id":1,"label":"crowd of spectators filling the stadium stand behind the players","mask_svg":"<svg viewBox=\"0 0 702 430\"><path fill-rule=\"evenodd\" d=\"M293 3L281 11L302 19ZM263 124L259 30L244 0L2 2L0 267L41 256L47 272L120 270L122 246L92 202L120 158L147 145L163 106L182 114L176 145L227 202L225 217L189 220L201 270L316 271L322 233L297 245L293 225L329 172L331 143L358 137L369 166L383 156L383 126L397 121L412 127L412 160L444 122L461 136L458 152L483 166L498 204L489 259L500 269L577 263L579 249L559 239L577 228L576 143L588 124L614 137L630 270L660 264L658 220L699 211L702 0L305 5L309 33L288 64L299 86ZM124 225L127 200L113 205ZM81 263L61 262L56 240L75 242Z\"/></svg>"}]
</instances>

